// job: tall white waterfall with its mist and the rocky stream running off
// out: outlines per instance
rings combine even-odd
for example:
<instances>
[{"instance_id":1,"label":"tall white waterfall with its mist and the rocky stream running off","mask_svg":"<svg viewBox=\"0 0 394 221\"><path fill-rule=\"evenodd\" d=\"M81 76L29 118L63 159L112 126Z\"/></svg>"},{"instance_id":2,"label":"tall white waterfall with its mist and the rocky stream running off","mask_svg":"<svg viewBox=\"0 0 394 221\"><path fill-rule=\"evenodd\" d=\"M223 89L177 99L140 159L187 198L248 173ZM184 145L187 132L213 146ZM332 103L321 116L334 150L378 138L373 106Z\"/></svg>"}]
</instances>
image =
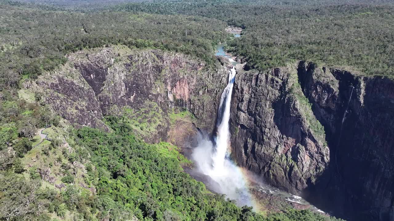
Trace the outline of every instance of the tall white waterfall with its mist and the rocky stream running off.
<instances>
[{"instance_id":1,"label":"tall white waterfall with its mist and the rocky stream running off","mask_svg":"<svg viewBox=\"0 0 394 221\"><path fill-rule=\"evenodd\" d=\"M238 206L253 206L255 211L259 211L261 204L255 202L249 188L258 187L258 192L273 194L276 197L283 197L290 202L309 204L299 196L281 192L279 189L271 188L264 184L261 177L242 170L236 166L229 155L230 150L230 107L232 90L235 82L236 70L233 67L229 71L227 87L221 94L219 107L217 110L216 133L213 139L201 133L198 145L193 149L191 157L195 162L193 173L203 180L208 190L225 194L225 198L235 200ZM197 173L196 173L197 172ZM201 176L201 174L205 176ZM200 181L201 181L200 180ZM314 207L318 212L323 212Z\"/></svg>"}]
</instances>

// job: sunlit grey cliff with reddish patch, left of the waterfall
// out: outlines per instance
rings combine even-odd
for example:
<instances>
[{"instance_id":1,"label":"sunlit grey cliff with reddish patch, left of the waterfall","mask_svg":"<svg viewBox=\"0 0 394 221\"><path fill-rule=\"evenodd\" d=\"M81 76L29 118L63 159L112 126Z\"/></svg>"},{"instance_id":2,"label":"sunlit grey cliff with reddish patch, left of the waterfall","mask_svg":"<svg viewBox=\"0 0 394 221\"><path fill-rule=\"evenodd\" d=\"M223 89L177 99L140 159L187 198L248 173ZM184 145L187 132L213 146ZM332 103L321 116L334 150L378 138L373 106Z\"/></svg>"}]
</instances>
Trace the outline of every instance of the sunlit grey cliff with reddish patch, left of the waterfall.
<instances>
[{"instance_id":1,"label":"sunlit grey cliff with reddish patch, left of the waterfall","mask_svg":"<svg viewBox=\"0 0 394 221\"><path fill-rule=\"evenodd\" d=\"M35 90L59 115L76 123L109 130L106 115L126 115L147 142L167 139L169 113L188 109L197 127L212 130L227 70L204 69L201 61L160 50L123 46L68 55L59 70L41 76Z\"/></svg>"}]
</instances>

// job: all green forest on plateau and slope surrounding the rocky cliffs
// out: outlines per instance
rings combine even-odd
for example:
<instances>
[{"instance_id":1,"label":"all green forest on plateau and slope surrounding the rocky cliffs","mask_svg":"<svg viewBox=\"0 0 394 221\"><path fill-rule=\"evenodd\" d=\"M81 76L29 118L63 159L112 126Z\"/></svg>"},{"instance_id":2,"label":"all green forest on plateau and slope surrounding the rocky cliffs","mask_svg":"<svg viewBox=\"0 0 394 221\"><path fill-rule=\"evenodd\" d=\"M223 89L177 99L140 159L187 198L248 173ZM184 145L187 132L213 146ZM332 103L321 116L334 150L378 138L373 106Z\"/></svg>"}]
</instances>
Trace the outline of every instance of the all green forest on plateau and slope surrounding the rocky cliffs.
<instances>
[{"instance_id":1,"label":"all green forest on plateau and slope surrounding the rocky cliffs","mask_svg":"<svg viewBox=\"0 0 394 221\"><path fill-rule=\"evenodd\" d=\"M0 1L0 220L71 213L93 221L335 220L309 210L266 216L236 207L182 172L188 162L175 147L145 144L112 116L106 121L114 133L65 126L40 94L23 89L65 64L67 53L106 44L186 53L210 68L214 46L226 41L250 68L307 59L392 77L393 17L389 0ZM227 25L242 27L242 37L225 33ZM33 149L37 129L48 125L61 128L70 149L59 140ZM38 166L24 169L37 156ZM64 186L46 181L48 168ZM73 185L83 169L86 186Z\"/></svg>"}]
</instances>

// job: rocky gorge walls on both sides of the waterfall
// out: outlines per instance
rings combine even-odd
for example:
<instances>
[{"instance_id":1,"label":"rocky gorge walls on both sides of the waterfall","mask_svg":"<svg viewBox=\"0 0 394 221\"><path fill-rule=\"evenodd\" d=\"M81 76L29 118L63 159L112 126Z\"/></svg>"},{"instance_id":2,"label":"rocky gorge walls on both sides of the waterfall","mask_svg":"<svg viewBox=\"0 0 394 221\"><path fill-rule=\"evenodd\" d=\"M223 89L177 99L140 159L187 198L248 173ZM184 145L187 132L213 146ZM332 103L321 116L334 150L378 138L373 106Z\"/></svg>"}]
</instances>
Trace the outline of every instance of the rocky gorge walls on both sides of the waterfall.
<instances>
[{"instance_id":1,"label":"rocky gorge walls on both sides of the waterfall","mask_svg":"<svg viewBox=\"0 0 394 221\"><path fill-rule=\"evenodd\" d=\"M137 119L129 123L145 142L169 140L184 149L197 129L214 131L229 82L227 61L206 70L201 61L179 53L121 46L68 59L26 90L77 127L108 130L103 116L123 113ZM306 61L240 71L234 80L230 153L239 166L333 215L391 219L392 80ZM171 123L174 109L189 110L193 120ZM383 114L374 114L376 109ZM371 167L362 166L366 162Z\"/></svg>"}]
</instances>

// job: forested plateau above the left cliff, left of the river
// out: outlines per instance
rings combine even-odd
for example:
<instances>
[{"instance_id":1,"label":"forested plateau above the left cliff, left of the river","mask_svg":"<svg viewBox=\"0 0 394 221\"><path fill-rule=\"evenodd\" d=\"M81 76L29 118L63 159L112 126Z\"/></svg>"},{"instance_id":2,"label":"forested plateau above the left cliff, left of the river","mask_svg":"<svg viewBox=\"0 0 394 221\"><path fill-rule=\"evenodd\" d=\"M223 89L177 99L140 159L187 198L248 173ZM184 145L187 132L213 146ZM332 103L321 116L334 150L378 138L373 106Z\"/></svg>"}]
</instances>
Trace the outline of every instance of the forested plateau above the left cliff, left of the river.
<instances>
[{"instance_id":1,"label":"forested plateau above the left cliff, left of the river","mask_svg":"<svg viewBox=\"0 0 394 221\"><path fill-rule=\"evenodd\" d=\"M203 17L50 11L12 2L3 2L0 12L2 90L54 70L66 53L106 44L171 50L212 63L214 45L226 37L225 22Z\"/></svg>"}]
</instances>

